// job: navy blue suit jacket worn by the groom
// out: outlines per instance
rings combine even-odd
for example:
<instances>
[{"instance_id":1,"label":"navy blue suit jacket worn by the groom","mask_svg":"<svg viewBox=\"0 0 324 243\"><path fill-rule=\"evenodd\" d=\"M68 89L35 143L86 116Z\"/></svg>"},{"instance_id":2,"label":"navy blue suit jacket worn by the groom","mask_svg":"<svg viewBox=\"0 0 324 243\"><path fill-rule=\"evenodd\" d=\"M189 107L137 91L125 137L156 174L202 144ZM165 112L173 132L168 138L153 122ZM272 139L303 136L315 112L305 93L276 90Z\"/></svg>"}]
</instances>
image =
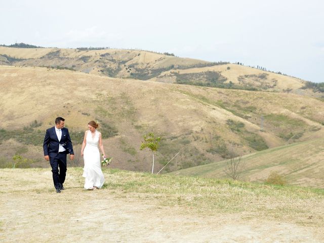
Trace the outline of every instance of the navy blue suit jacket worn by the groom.
<instances>
[{"instance_id":1,"label":"navy blue suit jacket worn by the groom","mask_svg":"<svg viewBox=\"0 0 324 243\"><path fill-rule=\"evenodd\" d=\"M50 157L55 157L59 152L60 144L66 149L66 154L74 154L71 138L67 128L62 128L61 141L58 140L55 132L55 127L46 130L44 138L44 156L49 155Z\"/></svg>"}]
</instances>

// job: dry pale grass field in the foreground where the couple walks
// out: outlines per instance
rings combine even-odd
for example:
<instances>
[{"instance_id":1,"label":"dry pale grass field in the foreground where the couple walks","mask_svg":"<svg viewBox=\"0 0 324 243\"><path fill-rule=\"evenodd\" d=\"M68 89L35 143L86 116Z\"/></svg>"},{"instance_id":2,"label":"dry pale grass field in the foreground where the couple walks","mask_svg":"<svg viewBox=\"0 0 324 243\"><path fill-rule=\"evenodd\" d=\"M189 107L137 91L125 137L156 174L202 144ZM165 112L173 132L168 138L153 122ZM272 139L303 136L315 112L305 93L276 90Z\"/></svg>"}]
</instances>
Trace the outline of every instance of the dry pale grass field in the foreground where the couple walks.
<instances>
[{"instance_id":1,"label":"dry pale grass field in the foreground where the couple walks","mask_svg":"<svg viewBox=\"0 0 324 243\"><path fill-rule=\"evenodd\" d=\"M297 187L152 176L104 169L83 189L69 168L56 193L49 169L1 169L2 242L322 242L324 193Z\"/></svg>"}]
</instances>

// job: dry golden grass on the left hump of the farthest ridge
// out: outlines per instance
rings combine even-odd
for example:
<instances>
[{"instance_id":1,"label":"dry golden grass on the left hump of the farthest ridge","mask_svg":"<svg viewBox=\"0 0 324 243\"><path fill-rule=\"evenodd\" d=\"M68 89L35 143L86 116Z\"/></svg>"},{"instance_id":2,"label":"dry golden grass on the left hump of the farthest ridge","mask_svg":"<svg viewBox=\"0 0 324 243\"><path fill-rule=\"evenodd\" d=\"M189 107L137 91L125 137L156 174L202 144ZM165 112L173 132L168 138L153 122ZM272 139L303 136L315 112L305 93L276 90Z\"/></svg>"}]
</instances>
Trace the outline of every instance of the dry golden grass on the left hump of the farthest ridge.
<instances>
[{"instance_id":1,"label":"dry golden grass on the left hump of the farthest ridge","mask_svg":"<svg viewBox=\"0 0 324 243\"><path fill-rule=\"evenodd\" d=\"M125 67L130 66L135 66L139 69L159 69L170 67L171 65L186 66L208 63L207 61L167 56L148 51L120 49L78 50L0 47L0 55L21 59L18 61L18 64L15 64L20 66L68 66L78 71L96 75L106 75L101 72L101 70L106 68L111 70L118 69L115 73L117 77L130 77L130 73L125 69ZM4 60L0 60L0 63L1 61ZM125 65L121 65L120 68L119 63L121 62L125 63ZM1 64L6 65L6 62L4 61Z\"/></svg>"}]
</instances>

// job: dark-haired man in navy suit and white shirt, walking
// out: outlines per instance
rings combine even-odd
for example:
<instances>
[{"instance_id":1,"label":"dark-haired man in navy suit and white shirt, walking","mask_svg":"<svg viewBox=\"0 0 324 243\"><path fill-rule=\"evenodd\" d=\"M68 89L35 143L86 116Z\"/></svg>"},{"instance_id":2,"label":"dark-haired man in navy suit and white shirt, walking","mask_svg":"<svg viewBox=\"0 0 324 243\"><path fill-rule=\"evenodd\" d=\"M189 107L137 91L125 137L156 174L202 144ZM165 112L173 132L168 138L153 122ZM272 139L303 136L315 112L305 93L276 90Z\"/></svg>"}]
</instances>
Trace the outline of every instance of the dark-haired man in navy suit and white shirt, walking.
<instances>
[{"instance_id":1,"label":"dark-haired man in navy suit and white shirt, walking","mask_svg":"<svg viewBox=\"0 0 324 243\"><path fill-rule=\"evenodd\" d=\"M50 160L53 182L56 192L64 190L63 183L66 176L66 154L74 159L71 138L67 128L64 128L64 118L57 117L55 126L46 130L44 138L44 157Z\"/></svg>"}]
</instances>

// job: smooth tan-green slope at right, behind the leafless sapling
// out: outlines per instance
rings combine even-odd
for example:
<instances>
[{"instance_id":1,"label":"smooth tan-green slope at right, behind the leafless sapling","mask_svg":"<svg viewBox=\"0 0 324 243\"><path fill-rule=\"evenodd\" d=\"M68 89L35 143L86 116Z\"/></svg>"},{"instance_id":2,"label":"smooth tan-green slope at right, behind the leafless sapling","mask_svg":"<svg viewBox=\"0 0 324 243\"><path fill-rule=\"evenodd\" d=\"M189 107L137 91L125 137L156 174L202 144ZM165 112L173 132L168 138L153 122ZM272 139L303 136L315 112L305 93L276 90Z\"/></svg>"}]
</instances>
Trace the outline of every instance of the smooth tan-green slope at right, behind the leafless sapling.
<instances>
[{"instance_id":1,"label":"smooth tan-green slope at right, behind the leafless sapling","mask_svg":"<svg viewBox=\"0 0 324 243\"><path fill-rule=\"evenodd\" d=\"M271 148L242 156L245 168L240 179L265 181L270 172L277 171L289 184L324 188L324 139L318 138ZM210 178L226 177L227 161L192 167L173 172L176 175Z\"/></svg>"}]
</instances>

